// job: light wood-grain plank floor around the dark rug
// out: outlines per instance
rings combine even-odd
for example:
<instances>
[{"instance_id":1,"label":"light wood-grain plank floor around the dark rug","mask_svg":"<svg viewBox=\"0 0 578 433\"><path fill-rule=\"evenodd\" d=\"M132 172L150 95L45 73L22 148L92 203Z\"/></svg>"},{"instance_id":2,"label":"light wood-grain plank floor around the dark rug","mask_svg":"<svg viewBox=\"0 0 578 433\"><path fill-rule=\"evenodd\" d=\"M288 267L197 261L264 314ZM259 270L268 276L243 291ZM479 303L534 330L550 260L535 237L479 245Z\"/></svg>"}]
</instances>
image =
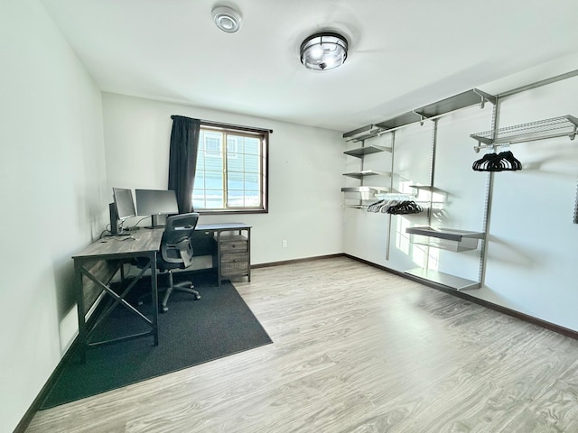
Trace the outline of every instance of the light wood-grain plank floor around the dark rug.
<instances>
[{"instance_id":1,"label":"light wood-grain plank floor around the dark rug","mask_svg":"<svg viewBox=\"0 0 578 433\"><path fill-rule=\"evenodd\" d=\"M38 412L27 432L578 432L578 341L346 257L235 286L272 345Z\"/></svg>"}]
</instances>

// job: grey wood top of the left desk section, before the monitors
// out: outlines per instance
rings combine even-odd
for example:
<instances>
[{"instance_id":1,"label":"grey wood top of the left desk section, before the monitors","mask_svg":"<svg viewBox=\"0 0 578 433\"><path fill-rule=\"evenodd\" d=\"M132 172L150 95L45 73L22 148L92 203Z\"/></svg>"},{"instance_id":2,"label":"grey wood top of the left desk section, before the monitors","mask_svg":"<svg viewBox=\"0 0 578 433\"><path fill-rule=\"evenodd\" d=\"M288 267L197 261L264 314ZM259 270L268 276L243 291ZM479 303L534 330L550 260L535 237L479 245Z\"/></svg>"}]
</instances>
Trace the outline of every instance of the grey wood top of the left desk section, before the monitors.
<instances>
[{"instance_id":1,"label":"grey wood top of the left desk section, before the monitors","mask_svg":"<svg viewBox=\"0 0 578 433\"><path fill-rule=\"evenodd\" d=\"M164 228L141 229L131 236L109 236L89 244L84 250L72 256L83 257L126 255L158 251L163 238Z\"/></svg>"}]
</instances>

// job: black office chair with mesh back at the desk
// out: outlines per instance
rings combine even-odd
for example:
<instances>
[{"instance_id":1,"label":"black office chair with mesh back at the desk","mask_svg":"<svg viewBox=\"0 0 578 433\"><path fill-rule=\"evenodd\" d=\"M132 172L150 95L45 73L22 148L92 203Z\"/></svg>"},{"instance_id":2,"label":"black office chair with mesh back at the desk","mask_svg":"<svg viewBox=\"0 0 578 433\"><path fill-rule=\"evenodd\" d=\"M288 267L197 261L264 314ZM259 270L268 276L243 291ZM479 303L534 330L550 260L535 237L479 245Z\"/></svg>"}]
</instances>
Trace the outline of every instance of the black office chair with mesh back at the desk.
<instances>
[{"instance_id":1,"label":"black office chair with mesh back at the desk","mask_svg":"<svg viewBox=\"0 0 578 433\"><path fill-rule=\"evenodd\" d=\"M191 212L188 214L174 215L166 218L163 239L161 241L161 253L156 257L156 268L159 272L168 272L169 287L161 302L163 312L168 310L166 306L172 290L191 293L194 299L200 299L200 293L193 290L191 281L182 281L177 284L172 282L172 270L187 269L192 264L192 233L199 221L199 214Z\"/></svg>"}]
</instances>

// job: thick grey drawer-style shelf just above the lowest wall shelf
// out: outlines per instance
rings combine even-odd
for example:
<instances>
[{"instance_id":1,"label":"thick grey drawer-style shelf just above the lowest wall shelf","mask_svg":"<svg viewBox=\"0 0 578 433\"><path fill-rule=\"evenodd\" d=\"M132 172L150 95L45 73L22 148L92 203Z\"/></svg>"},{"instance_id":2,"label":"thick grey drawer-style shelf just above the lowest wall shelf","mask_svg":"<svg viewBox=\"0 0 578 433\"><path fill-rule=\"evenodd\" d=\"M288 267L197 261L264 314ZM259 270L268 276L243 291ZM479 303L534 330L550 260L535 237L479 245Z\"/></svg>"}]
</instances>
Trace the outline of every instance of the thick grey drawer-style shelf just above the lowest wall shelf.
<instances>
[{"instance_id":1,"label":"thick grey drawer-style shelf just above the lowest wall shelf","mask_svg":"<svg viewBox=\"0 0 578 433\"><path fill-rule=\"evenodd\" d=\"M412 244L431 246L454 253L477 249L480 239L485 237L483 232L429 226L408 227L406 233L411 235Z\"/></svg>"}]
</instances>

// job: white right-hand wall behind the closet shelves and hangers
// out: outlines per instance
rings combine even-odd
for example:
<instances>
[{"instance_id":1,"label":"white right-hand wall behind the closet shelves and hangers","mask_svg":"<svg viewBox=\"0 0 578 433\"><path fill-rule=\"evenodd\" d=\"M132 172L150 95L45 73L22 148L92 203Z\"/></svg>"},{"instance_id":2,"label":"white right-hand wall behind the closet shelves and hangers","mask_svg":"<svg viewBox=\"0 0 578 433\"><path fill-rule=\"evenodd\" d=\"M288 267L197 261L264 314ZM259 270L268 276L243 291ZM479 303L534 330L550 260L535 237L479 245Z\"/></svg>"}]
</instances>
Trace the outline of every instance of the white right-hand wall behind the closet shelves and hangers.
<instances>
[{"instance_id":1,"label":"white right-hand wall behind the closet shelves and hangers","mask_svg":"<svg viewBox=\"0 0 578 433\"><path fill-rule=\"evenodd\" d=\"M510 88L528 84L506 81ZM502 86L500 91L506 90ZM578 78L574 77L504 97L499 102L498 126L559 115L576 116L578 102L573 96L577 91ZM483 110L473 106L438 121L433 185L445 191L447 197L443 213L432 220L432 226L483 229L484 195L489 174L471 170L471 163L483 152L473 152L477 143L470 134L491 128L491 109L489 104ZM394 171L397 174L414 182L427 183L432 128L433 123L426 122L423 126L415 124L396 132ZM387 135L373 140L387 140ZM494 175L485 284L480 290L468 293L578 330L578 315L575 314L578 286L573 272L578 259L578 225L573 224L578 140L557 138L520 143L512 145L511 151L522 161L524 170ZM378 158L382 158L381 167L373 161L371 168L387 169L390 164L387 156ZM430 267L437 267L439 271L479 281L479 250L452 253L410 244L406 226L426 223L426 218L420 216L392 217L389 240L387 218L364 210L347 209L345 252L400 272L424 266L429 261ZM387 242L391 247L389 260L385 254Z\"/></svg>"}]
</instances>

